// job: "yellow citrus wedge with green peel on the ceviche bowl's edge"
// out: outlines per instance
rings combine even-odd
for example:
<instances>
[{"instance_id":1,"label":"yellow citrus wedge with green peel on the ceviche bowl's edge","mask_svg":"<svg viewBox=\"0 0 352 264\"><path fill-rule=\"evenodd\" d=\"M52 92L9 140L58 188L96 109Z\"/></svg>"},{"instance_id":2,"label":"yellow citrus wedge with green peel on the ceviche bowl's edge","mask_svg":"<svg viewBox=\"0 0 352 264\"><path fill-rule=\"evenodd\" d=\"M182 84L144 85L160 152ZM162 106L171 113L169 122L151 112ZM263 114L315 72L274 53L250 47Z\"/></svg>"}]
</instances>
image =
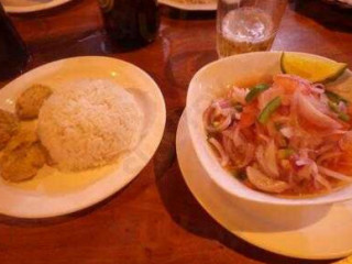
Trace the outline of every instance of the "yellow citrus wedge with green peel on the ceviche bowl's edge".
<instances>
[{"instance_id":1,"label":"yellow citrus wedge with green peel on the ceviche bowl's edge","mask_svg":"<svg viewBox=\"0 0 352 264\"><path fill-rule=\"evenodd\" d=\"M285 74L297 75L312 82L328 82L341 76L348 65L301 54L283 53L280 67Z\"/></svg>"}]
</instances>

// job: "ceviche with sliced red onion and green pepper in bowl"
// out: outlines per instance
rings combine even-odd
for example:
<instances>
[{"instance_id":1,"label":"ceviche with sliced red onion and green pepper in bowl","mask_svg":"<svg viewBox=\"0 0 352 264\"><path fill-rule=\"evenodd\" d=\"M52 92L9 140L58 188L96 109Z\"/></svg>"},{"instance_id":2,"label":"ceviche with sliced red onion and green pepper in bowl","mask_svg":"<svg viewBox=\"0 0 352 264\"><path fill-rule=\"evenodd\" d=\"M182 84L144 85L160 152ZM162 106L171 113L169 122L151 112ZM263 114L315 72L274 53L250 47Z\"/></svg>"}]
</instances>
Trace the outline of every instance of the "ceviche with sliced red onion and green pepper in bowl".
<instances>
[{"instance_id":1,"label":"ceviche with sliced red onion and green pepper in bowl","mask_svg":"<svg viewBox=\"0 0 352 264\"><path fill-rule=\"evenodd\" d=\"M301 196L352 183L352 107L321 84L279 74L231 87L204 112L222 167L248 187Z\"/></svg>"}]
</instances>

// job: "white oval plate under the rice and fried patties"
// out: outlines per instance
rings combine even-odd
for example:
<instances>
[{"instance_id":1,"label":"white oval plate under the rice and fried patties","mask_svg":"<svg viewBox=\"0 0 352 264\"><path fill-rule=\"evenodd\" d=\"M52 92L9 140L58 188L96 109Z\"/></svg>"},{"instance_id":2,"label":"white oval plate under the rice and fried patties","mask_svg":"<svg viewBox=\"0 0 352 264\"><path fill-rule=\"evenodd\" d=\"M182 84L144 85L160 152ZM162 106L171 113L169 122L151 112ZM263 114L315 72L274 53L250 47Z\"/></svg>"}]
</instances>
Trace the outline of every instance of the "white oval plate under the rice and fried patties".
<instances>
[{"instance_id":1,"label":"white oval plate under the rice and fried patties","mask_svg":"<svg viewBox=\"0 0 352 264\"><path fill-rule=\"evenodd\" d=\"M61 216L87 208L129 184L152 158L165 128L165 103L154 80L142 69L109 57L74 57L33 69L0 89L0 108L14 110L14 100L32 84L57 86L79 78L109 78L135 97L145 114L135 150L112 165L81 173L44 167L31 180L0 180L0 213L20 218Z\"/></svg>"}]
</instances>

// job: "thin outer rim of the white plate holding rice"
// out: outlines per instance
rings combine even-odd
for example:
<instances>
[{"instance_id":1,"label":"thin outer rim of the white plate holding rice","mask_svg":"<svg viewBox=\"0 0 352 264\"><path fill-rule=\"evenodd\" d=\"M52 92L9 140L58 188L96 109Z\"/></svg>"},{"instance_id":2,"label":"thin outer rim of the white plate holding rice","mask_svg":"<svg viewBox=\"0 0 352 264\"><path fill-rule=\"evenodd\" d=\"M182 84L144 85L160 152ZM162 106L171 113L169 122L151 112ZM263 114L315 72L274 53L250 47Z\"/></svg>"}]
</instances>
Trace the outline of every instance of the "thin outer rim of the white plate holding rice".
<instances>
[{"instance_id":1,"label":"thin outer rim of the white plate holding rice","mask_svg":"<svg viewBox=\"0 0 352 264\"><path fill-rule=\"evenodd\" d=\"M69 208L59 208L57 210L44 210L45 212L43 211L40 211L40 212L34 212L34 213L22 213L22 212L8 212L8 211L4 211L2 209L0 209L0 215L4 215L4 216L9 216L9 217L14 217L14 218L22 218L22 219L42 219L42 218L53 218L53 217L59 217L59 216L65 216L65 215L69 215L69 213L73 213L73 212L76 212L76 211L81 211L84 209L87 209L109 197L111 197L112 195L117 194L118 191L120 191L121 189L123 189L124 187L127 187L133 179L135 179L141 170L150 163L150 161L154 157L154 154L163 139L163 135L164 135L164 131L165 131L165 124L166 124L166 105L165 105L165 100L164 100L164 96L161 91L161 88L158 87L158 85L155 82L155 80L146 73L144 72L142 68L140 68L139 66L132 64L132 63L129 63L129 62L125 62L123 59L119 59L119 58L114 58L114 57L108 57L108 56L75 56L75 57L68 57L68 58L62 58L62 59L58 59L58 61L54 61L54 62L51 62L51 63L47 63L47 64L44 64L44 65L41 65L36 68L33 68L29 72L26 72L25 74L19 76L18 78L13 79L12 81L10 81L9 84L7 84L6 86L3 86L1 88L0 91L2 90L7 90L7 87L12 85L12 82L14 81L18 81L18 79L20 78L23 78L23 79L29 79L31 77L33 72L37 72L37 73L43 73L43 70L46 68L46 67L53 67L55 65L61 65L67 61L76 61L76 59L107 59L107 61L111 61L111 62L114 62L114 63L118 63L118 64L122 64L122 65L127 65L128 67L131 67L133 68L133 70L136 70L139 74L142 74L145 79L148 79L150 84L152 87L154 87L153 89L155 89L155 95L157 96L157 100L158 100L158 103L161 105L161 108L157 109L157 120L155 122L155 129L154 129L154 133L156 134L156 136L154 138L152 144L151 142L147 143L147 145L145 147L147 147L146 151L148 151L147 153L147 158L145 158L140 167L138 167L138 169L132 173L133 176L130 176L129 178L124 179L123 184L121 184L121 186L116 186L114 188L111 188L109 191L106 191L103 193L103 195L100 195L100 196L95 196L92 199L89 199L88 202L84 202L84 205L78 205L78 206L72 206ZM1 92L0 92L1 94ZM151 133L151 132L150 132ZM140 144L142 143L143 141L141 141L139 143L139 145L135 147L135 151L139 150L139 146ZM144 143L146 144L146 143ZM135 153L135 151L131 152L132 154ZM105 175L102 176L100 179L105 178L105 177L108 177L110 175L114 174L114 172L111 172L109 173L109 175ZM94 182L92 184L95 184L96 182ZM87 187L89 186L92 186L92 184L88 185ZM8 188L9 186L6 186L6 188ZM10 188L10 187L9 187ZM85 187L86 188L86 187ZM11 193L11 190L8 190ZM82 190L80 190L82 191ZM75 193L75 191L74 191ZM72 193L69 194L72 195ZM31 194L29 194L29 196L32 196ZM62 197L66 197L67 195L64 194L62 195ZM78 195L79 196L79 195ZM56 197L56 196L55 196ZM77 199L77 197L73 197L70 198L73 200Z\"/></svg>"}]
</instances>

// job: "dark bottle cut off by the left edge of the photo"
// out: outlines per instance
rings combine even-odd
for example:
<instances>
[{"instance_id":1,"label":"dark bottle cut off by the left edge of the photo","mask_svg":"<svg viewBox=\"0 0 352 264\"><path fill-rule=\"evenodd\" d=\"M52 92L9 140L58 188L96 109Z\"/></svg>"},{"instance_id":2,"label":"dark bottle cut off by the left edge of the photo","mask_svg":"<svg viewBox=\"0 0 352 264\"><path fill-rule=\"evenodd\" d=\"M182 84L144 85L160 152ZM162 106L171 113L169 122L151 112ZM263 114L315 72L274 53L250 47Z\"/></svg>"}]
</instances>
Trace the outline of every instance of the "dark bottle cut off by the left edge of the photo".
<instances>
[{"instance_id":1,"label":"dark bottle cut off by the left edge of the photo","mask_svg":"<svg viewBox=\"0 0 352 264\"><path fill-rule=\"evenodd\" d=\"M29 58L23 41L0 3L0 79L20 74Z\"/></svg>"}]
</instances>

